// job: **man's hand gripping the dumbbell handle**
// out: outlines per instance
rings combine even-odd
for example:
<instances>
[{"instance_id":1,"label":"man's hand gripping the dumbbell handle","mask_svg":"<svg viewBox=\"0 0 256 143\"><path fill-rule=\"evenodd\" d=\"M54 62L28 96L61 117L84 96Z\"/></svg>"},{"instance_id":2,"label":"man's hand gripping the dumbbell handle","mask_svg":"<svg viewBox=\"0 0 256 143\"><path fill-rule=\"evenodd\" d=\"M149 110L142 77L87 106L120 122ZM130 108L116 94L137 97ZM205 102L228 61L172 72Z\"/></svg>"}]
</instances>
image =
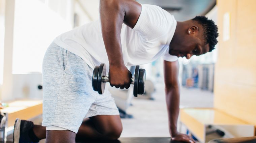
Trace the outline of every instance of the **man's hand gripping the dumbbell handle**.
<instances>
[{"instance_id":1,"label":"man's hand gripping the dumbbell handle","mask_svg":"<svg viewBox=\"0 0 256 143\"><path fill-rule=\"evenodd\" d=\"M131 85L132 74L124 65L109 66L108 77L110 85L115 86L116 88L127 89Z\"/></svg>"}]
</instances>

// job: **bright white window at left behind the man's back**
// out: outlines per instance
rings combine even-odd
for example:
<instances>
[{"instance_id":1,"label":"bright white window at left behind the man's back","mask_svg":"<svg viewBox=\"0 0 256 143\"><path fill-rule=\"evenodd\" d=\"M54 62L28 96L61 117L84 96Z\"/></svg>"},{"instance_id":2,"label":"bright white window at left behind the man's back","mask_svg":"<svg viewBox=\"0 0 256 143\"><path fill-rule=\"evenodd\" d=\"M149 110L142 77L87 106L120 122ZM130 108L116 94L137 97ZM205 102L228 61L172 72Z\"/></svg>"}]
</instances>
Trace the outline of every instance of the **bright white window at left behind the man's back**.
<instances>
[{"instance_id":1,"label":"bright white window at left behind the man's back","mask_svg":"<svg viewBox=\"0 0 256 143\"><path fill-rule=\"evenodd\" d=\"M64 12L70 12L69 7ZM13 74L42 71L42 60L48 46L59 34L72 29L72 21L66 19L63 13L50 9L42 0L15 1Z\"/></svg>"}]
</instances>

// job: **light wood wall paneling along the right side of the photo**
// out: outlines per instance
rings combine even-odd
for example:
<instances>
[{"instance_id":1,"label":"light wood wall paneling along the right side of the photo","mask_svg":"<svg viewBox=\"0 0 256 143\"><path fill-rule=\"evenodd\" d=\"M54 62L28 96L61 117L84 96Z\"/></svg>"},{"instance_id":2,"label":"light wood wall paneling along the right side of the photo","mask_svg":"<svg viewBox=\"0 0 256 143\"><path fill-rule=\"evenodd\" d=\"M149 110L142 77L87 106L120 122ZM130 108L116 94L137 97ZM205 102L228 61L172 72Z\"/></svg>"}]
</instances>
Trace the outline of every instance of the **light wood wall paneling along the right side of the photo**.
<instances>
[{"instance_id":1,"label":"light wood wall paneling along the right side of the photo","mask_svg":"<svg viewBox=\"0 0 256 143\"><path fill-rule=\"evenodd\" d=\"M256 125L256 1L218 0L219 57L214 107ZM222 40L223 15L230 12L230 40Z\"/></svg>"}]
</instances>

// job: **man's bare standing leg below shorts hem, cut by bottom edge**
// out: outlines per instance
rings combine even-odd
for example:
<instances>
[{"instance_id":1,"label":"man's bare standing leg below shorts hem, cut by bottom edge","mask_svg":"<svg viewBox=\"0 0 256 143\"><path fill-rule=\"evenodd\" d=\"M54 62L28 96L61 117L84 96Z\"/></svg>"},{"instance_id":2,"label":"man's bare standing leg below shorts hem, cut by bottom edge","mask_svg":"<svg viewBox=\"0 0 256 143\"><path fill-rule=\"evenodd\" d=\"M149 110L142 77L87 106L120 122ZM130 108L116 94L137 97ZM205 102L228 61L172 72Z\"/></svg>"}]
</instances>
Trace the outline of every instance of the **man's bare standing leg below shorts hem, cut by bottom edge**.
<instances>
[{"instance_id":1,"label":"man's bare standing leg below shorts hem, cut by bottom edge","mask_svg":"<svg viewBox=\"0 0 256 143\"><path fill-rule=\"evenodd\" d=\"M46 143L75 143L76 133L65 131L46 131Z\"/></svg>"}]
</instances>

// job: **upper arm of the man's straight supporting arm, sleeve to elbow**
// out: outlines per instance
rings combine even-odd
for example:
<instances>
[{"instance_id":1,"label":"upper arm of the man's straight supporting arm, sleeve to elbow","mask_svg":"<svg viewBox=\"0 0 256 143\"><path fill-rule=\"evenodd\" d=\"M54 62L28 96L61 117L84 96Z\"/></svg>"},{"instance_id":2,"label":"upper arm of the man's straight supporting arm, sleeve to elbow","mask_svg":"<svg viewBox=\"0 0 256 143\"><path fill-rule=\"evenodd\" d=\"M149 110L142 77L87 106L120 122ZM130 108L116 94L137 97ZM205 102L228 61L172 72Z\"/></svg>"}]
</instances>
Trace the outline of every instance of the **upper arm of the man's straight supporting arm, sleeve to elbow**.
<instances>
[{"instance_id":1,"label":"upper arm of the man's straight supporting arm, sleeve to elbow","mask_svg":"<svg viewBox=\"0 0 256 143\"><path fill-rule=\"evenodd\" d=\"M179 86L179 62L169 62L164 60L164 82L167 89Z\"/></svg>"}]
</instances>

